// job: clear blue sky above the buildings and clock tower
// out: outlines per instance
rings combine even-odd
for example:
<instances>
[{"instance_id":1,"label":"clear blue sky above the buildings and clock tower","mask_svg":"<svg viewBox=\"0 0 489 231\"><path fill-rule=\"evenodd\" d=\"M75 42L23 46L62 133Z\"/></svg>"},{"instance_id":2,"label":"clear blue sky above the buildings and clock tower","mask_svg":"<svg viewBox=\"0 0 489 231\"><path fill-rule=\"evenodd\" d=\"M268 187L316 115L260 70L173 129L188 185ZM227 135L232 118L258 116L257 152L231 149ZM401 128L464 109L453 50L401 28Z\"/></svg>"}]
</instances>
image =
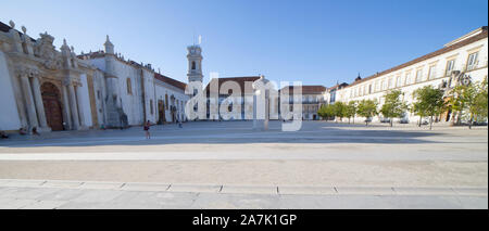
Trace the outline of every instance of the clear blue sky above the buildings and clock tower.
<instances>
[{"instance_id":1,"label":"clear blue sky above the buildings and clock tower","mask_svg":"<svg viewBox=\"0 0 489 231\"><path fill-rule=\"evenodd\" d=\"M80 51L102 49L186 81L202 35L204 79L263 74L330 87L441 48L488 22L487 0L1 0L0 21ZM204 80L205 81L205 80Z\"/></svg>"}]
</instances>

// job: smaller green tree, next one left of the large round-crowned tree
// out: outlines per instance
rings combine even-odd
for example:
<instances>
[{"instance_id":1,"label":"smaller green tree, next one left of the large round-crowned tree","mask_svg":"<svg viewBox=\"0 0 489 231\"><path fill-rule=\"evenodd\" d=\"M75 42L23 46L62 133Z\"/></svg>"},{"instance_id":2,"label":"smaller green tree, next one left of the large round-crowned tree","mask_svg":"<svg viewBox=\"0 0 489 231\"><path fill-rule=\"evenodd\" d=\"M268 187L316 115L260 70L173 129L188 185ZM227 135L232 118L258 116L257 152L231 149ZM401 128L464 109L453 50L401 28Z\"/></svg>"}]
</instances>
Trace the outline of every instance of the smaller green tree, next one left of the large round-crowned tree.
<instances>
[{"instance_id":1,"label":"smaller green tree, next one left of the large round-crowned tree","mask_svg":"<svg viewBox=\"0 0 489 231\"><path fill-rule=\"evenodd\" d=\"M380 108L380 113L386 118L390 118L390 127L392 127L393 118L401 117L408 110L408 104L400 99L403 93L400 90L392 90L384 95L386 102Z\"/></svg>"}]
</instances>

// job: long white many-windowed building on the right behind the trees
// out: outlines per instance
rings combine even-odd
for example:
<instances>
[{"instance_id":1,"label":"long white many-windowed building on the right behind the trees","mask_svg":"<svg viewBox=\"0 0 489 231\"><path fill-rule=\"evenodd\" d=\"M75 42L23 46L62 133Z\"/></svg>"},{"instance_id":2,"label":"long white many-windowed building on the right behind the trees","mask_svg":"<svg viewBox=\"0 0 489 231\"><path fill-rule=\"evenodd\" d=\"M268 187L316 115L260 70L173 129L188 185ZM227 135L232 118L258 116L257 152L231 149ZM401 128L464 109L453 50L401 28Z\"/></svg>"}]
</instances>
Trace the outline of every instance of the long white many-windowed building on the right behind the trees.
<instances>
[{"instance_id":1,"label":"long white many-windowed building on the right behind the trees","mask_svg":"<svg viewBox=\"0 0 489 231\"><path fill-rule=\"evenodd\" d=\"M404 101L413 103L413 92L425 86L449 89L453 87L456 72L469 77L472 81L482 81L488 75L488 30L480 27L464 35L443 48L417 57L408 63L377 73L364 79L356 78L348 87L336 91L336 101L349 102L376 100L379 106L384 95L389 90L399 89L404 93ZM449 112L450 113L450 112ZM410 123L416 123L418 117L412 113L405 115ZM363 120L365 118L359 118ZM379 120L376 117L373 120ZM448 121L450 115L443 115L441 120Z\"/></svg>"}]
</instances>

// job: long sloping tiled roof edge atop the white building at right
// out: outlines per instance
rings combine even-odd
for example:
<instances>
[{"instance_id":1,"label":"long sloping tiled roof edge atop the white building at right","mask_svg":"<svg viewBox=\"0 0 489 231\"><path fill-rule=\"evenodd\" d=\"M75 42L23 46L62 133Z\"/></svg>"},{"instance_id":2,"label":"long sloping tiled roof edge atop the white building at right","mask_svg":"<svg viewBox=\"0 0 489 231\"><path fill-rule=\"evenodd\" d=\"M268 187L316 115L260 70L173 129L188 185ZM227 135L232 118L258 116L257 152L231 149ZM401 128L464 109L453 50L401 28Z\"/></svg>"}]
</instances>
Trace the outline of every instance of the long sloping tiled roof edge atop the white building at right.
<instances>
[{"instance_id":1,"label":"long sloping tiled roof edge atop the white building at right","mask_svg":"<svg viewBox=\"0 0 489 231\"><path fill-rule=\"evenodd\" d=\"M421 56L421 57L414 59L414 60L412 60L412 61L410 61L410 62L408 62L408 63L403 63L403 64L398 65L398 66L394 66L394 67L392 67L392 68L390 68L390 69L386 69L386 70L384 70L384 72L381 72L381 73L377 73L377 74L372 75L372 76L368 76L368 77L366 77L366 78L363 78L363 79L360 79L360 80L355 80L355 81L353 81L352 84L350 84L350 86L348 86L348 87L352 87L352 86L359 85L359 84L361 84L361 82L364 82L364 81L366 81L366 80L371 80L371 79L374 79L374 78L376 78L376 77L379 77L379 76L383 76L383 75L387 75L387 74L389 74L389 73L393 73L393 72L399 70L399 69L402 69L402 68L404 68L404 67L414 65L414 64L416 64L416 63L419 63L419 62L429 60L429 59L431 59L431 57L438 56L438 55L440 55L440 54L444 54L444 53L447 53L447 52L453 51L453 50L459 49L459 48L461 48L461 47L464 47L464 46L466 46L466 44L471 44L471 43L473 43L473 42L476 42L476 41L478 41L478 40L481 40L481 39L487 38L487 37L488 37L487 26L482 26L482 27L480 27L480 29L481 29L481 33L478 34L478 35L476 35L476 36L469 37L469 38L467 38L467 39L465 39L465 40L461 40L461 41L459 41L459 42L456 42L456 43L453 43L453 44L451 44L451 46L444 47L444 48L439 49L439 50L437 50L437 51L434 51L434 52L431 52L431 53L425 54L425 55L423 55L423 56Z\"/></svg>"}]
</instances>

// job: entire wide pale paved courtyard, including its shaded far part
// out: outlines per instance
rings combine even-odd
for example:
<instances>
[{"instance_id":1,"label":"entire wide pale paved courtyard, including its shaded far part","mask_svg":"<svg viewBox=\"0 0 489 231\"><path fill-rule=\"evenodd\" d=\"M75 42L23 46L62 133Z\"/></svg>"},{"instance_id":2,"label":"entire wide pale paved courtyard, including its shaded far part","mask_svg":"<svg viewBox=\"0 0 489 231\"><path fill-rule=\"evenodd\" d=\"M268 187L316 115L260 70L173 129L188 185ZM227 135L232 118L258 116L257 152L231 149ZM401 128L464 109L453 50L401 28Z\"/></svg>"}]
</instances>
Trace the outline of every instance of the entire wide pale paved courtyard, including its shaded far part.
<instances>
[{"instance_id":1,"label":"entire wide pale paved courtyard, including its shaded far part","mask_svg":"<svg viewBox=\"0 0 489 231\"><path fill-rule=\"evenodd\" d=\"M131 200L159 195L178 203L183 197L178 208L487 208L487 127L430 131L304 121L300 131L283 132L280 125L272 121L268 131L253 131L251 121L154 126L151 140L141 128L14 136L0 140L0 179L9 182L0 183L0 205L29 208L54 201L47 208L117 208L120 201L111 200L129 193L136 196ZM17 179L38 181L25 188ZM53 180L120 188L45 185ZM128 182L173 188L130 192L121 188ZM46 196L33 197L32 190ZM65 191L111 196L103 203L57 200ZM142 201L127 206L151 204ZM166 201L148 206L172 207ZM250 201L256 203L242 204Z\"/></svg>"}]
</instances>

